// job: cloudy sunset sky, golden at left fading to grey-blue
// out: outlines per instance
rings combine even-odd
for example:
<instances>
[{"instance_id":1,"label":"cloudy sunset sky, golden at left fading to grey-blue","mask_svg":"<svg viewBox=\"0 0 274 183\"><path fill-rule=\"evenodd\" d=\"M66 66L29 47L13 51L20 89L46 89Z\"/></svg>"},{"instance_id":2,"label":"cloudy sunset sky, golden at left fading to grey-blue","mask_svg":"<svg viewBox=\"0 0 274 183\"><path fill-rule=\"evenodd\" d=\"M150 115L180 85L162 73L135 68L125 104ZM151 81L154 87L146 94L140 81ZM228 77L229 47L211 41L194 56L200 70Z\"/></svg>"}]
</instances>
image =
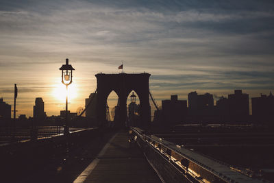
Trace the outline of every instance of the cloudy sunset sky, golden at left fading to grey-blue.
<instances>
[{"instance_id":1,"label":"cloudy sunset sky, golden at left fading to grey-blue","mask_svg":"<svg viewBox=\"0 0 274 183\"><path fill-rule=\"evenodd\" d=\"M72 112L95 91L95 74L121 72L121 60L125 73L151 73L159 105L194 90L215 101L274 91L273 1L0 0L0 40L0 97L12 104L17 84L17 114L27 117L36 97L47 115L64 109L66 58Z\"/></svg>"}]
</instances>

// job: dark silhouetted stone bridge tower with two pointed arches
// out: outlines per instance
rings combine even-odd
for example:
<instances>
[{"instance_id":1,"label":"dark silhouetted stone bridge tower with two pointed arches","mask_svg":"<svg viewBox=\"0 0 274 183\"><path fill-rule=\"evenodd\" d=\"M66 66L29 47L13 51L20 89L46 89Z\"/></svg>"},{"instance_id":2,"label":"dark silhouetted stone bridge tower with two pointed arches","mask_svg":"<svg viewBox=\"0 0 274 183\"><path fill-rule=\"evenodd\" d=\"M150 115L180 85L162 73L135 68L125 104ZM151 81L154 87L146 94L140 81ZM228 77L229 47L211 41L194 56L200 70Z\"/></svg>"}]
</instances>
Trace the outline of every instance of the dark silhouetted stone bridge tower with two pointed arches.
<instances>
[{"instance_id":1,"label":"dark silhouetted stone bridge tower with two pointed arches","mask_svg":"<svg viewBox=\"0 0 274 183\"><path fill-rule=\"evenodd\" d=\"M134 90L140 99L140 127L149 127L150 106L149 106L149 73L140 74L104 74L99 73L97 77L97 119L100 125L105 123L105 103L108 95L114 90L119 97L119 123L124 126L127 120L127 97Z\"/></svg>"}]
</instances>

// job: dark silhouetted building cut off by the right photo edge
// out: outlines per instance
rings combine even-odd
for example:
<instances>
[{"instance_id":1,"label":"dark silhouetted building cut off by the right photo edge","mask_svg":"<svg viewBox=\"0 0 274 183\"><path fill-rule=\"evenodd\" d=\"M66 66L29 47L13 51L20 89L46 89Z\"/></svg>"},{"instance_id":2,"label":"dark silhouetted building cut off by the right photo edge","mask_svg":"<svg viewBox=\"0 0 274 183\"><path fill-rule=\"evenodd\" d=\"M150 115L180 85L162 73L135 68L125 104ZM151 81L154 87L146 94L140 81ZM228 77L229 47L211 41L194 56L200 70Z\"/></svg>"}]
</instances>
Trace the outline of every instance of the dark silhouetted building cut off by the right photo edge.
<instances>
[{"instance_id":1,"label":"dark silhouetted building cut off by the right photo edge","mask_svg":"<svg viewBox=\"0 0 274 183\"><path fill-rule=\"evenodd\" d=\"M252 117L258 122L273 121L274 119L274 96L262 95L251 98Z\"/></svg>"}]
</instances>

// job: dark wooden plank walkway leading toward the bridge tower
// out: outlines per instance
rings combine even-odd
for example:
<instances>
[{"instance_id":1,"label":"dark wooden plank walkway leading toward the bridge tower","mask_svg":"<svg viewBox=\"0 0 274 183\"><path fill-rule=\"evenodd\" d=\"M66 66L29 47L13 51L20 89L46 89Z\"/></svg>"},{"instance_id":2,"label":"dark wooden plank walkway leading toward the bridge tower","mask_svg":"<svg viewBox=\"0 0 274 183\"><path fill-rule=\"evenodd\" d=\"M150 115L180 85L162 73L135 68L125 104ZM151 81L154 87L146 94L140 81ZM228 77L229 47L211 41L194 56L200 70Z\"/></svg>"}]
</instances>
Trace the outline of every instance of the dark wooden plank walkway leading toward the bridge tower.
<instances>
[{"instance_id":1,"label":"dark wooden plank walkway leading toward the bridge tower","mask_svg":"<svg viewBox=\"0 0 274 183\"><path fill-rule=\"evenodd\" d=\"M74 182L161 182L142 151L128 139L126 132L114 135Z\"/></svg>"}]
</instances>

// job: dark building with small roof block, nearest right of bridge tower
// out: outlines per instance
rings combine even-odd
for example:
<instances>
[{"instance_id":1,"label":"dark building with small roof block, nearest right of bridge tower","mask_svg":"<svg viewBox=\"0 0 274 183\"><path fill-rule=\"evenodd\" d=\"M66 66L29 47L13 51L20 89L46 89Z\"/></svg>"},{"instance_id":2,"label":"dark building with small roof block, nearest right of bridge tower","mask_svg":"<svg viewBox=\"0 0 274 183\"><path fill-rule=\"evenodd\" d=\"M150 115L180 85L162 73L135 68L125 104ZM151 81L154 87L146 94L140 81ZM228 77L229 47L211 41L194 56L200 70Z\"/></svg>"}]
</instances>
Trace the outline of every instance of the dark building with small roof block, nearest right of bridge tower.
<instances>
[{"instance_id":1,"label":"dark building with small roof block, nearest right of bridge tower","mask_svg":"<svg viewBox=\"0 0 274 183\"><path fill-rule=\"evenodd\" d=\"M178 100L177 95L171 95L171 100L162 100L162 115L166 125L183 123L187 115L186 100Z\"/></svg>"}]
</instances>

